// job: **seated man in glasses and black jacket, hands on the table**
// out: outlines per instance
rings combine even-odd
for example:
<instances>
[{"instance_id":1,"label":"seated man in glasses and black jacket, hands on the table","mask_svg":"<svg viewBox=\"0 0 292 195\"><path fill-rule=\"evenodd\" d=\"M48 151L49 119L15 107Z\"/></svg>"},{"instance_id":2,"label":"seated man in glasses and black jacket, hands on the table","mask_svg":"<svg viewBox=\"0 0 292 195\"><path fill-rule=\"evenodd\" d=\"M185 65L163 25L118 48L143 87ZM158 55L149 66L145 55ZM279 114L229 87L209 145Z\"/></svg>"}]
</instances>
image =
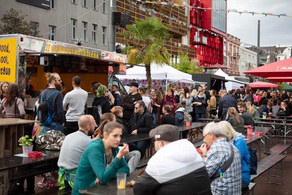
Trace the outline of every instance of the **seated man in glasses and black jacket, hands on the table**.
<instances>
[{"instance_id":1,"label":"seated man in glasses and black jacket, hands on the table","mask_svg":"<svg viewBox=\"0 0 292 195\"><path fill-rule=\"evenodd\" d=\"M149 133L153 129L153 115L145 107L145 103L139 100L135 103L135 113L132 115L128 124L128 133L137 135L137 133ZM138 146L141 158L145 156L146 149L150 146L149 140L138 141L135 143Z\"/></svg>"}]
</instances>

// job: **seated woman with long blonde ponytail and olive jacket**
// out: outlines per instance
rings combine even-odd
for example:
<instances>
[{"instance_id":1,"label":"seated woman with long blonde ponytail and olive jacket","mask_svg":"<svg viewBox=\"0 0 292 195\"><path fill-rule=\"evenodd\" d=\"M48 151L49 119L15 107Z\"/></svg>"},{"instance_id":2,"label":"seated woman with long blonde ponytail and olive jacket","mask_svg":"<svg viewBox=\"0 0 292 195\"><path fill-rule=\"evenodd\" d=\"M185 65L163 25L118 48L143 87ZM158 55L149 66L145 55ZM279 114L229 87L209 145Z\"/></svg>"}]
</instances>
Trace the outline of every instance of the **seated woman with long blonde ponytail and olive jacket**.
<instances>
[{"instance_id":1,"label":"seated woman with long blonde ponytail and olive jacket","mask_svg":"<svg viewBox=\"0 0 292 195\"><path fill-rule=\"evenodd\" d=\"M228 116L231 116L228 118ZM228 108L226 121L228 121L236 132L244 133L244 119L239 117L234 107Z\"/></svg>"}]
</instances>

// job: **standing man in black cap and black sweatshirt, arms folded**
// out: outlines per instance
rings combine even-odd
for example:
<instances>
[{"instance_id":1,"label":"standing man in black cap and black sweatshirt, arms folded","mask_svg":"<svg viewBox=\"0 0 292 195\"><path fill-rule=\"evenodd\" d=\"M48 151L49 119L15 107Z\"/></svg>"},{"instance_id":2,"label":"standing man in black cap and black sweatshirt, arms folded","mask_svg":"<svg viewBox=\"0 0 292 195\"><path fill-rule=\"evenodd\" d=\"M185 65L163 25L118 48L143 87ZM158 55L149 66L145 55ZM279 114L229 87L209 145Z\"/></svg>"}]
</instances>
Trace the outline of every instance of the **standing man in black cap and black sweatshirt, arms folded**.
<instances>
[{"instance_id":1,"label":"standing man in black cap and black sweatshirt, arms folded","mask_svg":"<svg viewBox=\"0 0 292 195\"><path fill-rule=\"evenodd\" d=\"M130 86L129 94L121 101L121 107L124 109L123 119L126 123L128 123L133 114L134 104L137 101L142 100L142 96L138 93L138 83L132 82L128 84L128 86Z\"/></svg>"}]
</instances>

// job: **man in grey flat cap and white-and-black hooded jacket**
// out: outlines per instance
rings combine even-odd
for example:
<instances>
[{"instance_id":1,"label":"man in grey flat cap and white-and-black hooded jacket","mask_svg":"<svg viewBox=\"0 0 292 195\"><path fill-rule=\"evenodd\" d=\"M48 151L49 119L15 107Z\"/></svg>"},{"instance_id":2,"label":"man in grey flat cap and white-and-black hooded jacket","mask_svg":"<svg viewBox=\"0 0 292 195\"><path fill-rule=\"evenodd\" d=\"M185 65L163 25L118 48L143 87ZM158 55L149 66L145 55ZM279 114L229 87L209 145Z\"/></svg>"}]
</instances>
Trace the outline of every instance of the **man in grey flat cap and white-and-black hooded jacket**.
<instances>
[{"instance_id":1,"label":"man in grey flat cap and white-and-black hooded jacket","mask_svg":"<svg viewBox=\"0 0 292 195\"><path fill-rule=\"evenodd\" d=\"M212 194L202 157L191 142L179 140L176 126L160 125L149 136L156 153L134 184L135 195Z\"/></svg>"}]
</instances>

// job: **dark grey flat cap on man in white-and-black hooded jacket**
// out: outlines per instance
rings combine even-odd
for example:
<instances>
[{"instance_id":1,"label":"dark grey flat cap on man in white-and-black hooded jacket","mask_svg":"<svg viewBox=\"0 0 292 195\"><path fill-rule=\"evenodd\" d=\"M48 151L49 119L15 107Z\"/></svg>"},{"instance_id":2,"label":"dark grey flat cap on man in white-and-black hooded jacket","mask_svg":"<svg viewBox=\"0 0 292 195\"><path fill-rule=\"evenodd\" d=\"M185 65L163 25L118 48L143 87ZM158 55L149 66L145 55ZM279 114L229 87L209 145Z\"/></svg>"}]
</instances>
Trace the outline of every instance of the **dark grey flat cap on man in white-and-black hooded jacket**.
<instances>
[{"instance_id":1,"label":"dark grey flat cap on man in white-and-black hooded jacket","mask_svg":"<svg viewBox=\"0 0 292 195\"><path fill-rule=\"evenodd\" d=\"M159 125L149 132L149 137L169 142L177 141L179 140L179 128L174 125Z\"/></svg>"}]
</instances>

